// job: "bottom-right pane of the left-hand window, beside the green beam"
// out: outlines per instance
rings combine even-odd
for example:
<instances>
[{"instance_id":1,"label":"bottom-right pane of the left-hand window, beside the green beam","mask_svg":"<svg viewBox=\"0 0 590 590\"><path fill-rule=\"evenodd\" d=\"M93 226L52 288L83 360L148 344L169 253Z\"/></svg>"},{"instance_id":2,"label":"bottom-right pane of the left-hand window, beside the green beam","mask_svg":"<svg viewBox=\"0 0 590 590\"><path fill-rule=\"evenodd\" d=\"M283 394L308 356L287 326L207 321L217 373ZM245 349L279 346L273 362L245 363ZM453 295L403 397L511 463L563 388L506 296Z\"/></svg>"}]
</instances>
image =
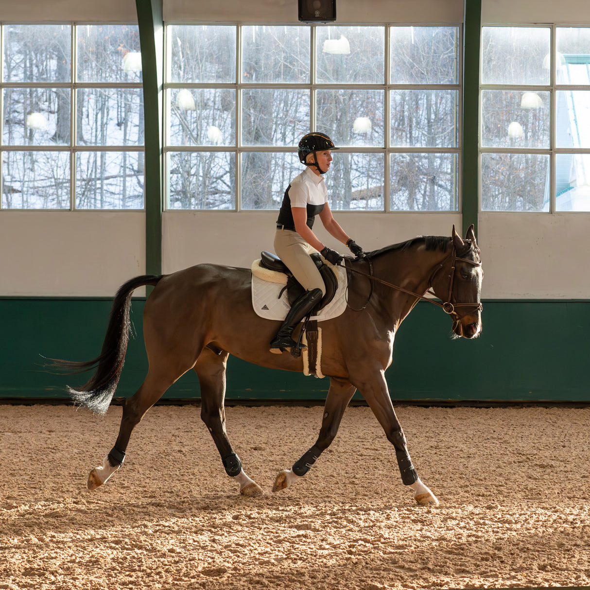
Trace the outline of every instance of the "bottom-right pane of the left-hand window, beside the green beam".
<instances>
[{"instance_id":1,"label":"bottom-right pane of the left-hand window, beside the green beam","mask_svg":"<svg viewBox=\"0 0 590 590\"><path fill-rule=\"evenodd\" d=\"M77 209L143 209L143 152L78 152Z\"/></svg>"}]
</instances>

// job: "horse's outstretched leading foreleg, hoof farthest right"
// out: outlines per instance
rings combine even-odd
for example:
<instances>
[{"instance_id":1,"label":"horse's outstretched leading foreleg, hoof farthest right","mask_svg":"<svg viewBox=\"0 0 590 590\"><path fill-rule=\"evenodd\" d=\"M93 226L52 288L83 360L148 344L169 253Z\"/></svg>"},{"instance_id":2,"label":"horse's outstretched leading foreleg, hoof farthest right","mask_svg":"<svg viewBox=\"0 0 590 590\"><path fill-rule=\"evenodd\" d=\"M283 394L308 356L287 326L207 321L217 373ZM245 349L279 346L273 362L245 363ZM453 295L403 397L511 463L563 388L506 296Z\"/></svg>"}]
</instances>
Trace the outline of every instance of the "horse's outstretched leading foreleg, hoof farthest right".
<instances>
[{"instance_id":1,"label":"horse's outstretched leading foreleg, hoof farthest right","mask_svg":"<svg viewBox=\"0 0 590 590\"><path fill-rule=\"evenodd\" d=\"M360 385L359 385L360 389ZM438 506L438 500L425 486L418 473L415 470L412 460L408 453L408 444L405 438L398 417L395 415L394 406L391 403L385 374L379 371L378 379L371 379L362 386L362 394L365 397L373 414L383 427L387 440L394 445L395 457L398 461L399 473L402 476L402 482L414 490L414 499L418 504L435 504Z\"/></svg>"}]
</instances>

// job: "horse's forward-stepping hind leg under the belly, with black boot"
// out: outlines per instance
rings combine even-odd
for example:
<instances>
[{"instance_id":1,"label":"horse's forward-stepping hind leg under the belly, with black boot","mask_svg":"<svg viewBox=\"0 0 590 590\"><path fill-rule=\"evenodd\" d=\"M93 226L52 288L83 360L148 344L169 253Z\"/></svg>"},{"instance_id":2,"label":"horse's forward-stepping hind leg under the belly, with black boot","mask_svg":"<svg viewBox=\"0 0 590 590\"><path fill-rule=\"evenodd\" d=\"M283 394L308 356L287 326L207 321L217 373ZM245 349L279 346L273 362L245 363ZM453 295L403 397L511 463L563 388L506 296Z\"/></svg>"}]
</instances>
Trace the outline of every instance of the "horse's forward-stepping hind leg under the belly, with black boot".
<instances>
[{"instance_id":1,"label":"horse's forward-stepping hind leg under the belly, with black boot","mask_svg":"<svg viewBox=\"0 0 590 590\"><path fill-rule=\"evenodd\" d=\"M234 453L225 432L225 367L228 356L225 350L205 347L196 362L195 372L201 385L201 419L221 455L225 473L240 484L240 493L261 496L263 490L244 473L240 458Z\"/></svg>"}]
</instances>

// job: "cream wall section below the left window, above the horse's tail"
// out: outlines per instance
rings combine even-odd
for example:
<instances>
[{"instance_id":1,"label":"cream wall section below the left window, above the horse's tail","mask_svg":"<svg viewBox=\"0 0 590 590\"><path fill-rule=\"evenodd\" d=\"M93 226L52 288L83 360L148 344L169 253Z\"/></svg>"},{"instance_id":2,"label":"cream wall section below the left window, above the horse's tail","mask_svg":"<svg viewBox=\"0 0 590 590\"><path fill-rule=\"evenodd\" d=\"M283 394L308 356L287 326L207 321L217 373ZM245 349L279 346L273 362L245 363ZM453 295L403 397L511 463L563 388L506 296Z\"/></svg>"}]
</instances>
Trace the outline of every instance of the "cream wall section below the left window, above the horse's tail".
<instances>
[{"instance_id":1,"label":"cream wall section below the left window, above the horse's tail","mask_svg":"<svg viewBox=\"0 0 590 590\"><path fill-rule=\"evenodd\" d=\"M0 296L112 297L139 274L143 212L0 212Z\"/></svg>"}]
</instances>

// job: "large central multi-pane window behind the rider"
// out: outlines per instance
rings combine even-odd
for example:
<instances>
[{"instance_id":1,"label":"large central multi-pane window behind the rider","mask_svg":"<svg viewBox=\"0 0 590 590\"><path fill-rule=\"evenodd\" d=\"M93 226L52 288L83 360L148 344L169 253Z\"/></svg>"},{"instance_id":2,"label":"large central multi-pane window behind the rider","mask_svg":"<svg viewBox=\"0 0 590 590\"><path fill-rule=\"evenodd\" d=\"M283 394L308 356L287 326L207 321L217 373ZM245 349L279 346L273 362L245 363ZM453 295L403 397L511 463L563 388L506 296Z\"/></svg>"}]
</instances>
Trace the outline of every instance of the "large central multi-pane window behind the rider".
<instances>
[{"instance_id":1,"label":"large central multi-pane window behind the rider","mask_svg":"<svg viewBox=\"0 0 590 590\"><path fill-rule=\"evenodd\" d=\"M458 27L166 27L169 209L277 209L309 130L330 206L458 211Z\"/></svg>"}]
</instances>

